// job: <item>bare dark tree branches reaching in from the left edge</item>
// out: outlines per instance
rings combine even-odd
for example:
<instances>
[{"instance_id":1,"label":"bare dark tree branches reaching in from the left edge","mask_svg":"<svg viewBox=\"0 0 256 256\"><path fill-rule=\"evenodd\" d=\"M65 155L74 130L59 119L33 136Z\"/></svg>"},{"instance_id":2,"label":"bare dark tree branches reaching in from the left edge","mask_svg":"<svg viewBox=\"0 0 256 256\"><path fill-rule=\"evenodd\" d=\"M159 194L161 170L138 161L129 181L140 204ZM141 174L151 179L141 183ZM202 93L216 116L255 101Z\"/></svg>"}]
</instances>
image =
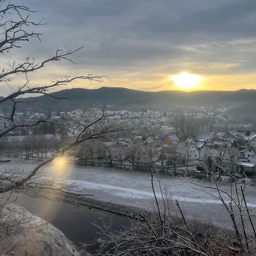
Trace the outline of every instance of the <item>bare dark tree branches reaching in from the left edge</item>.
<instances>
[{"instance_id":1,"label":"bare dark tree branches reaching in from the left edge","mask_svg":"<svg viewBox=\"0 0 256 256\"><path fill-rule=\"evenodd\" d=\"M30 39L37 38L40 40L40 34L38 32L34 32L36 27L43 25L42 20L35 22L30 19L30 13L34 11L30 10L26 6L18 6L13 5L6 1L1 1L0 4L0 30L2 37L0 38L0 53L3 57L8 59L7 55L13 48L22 48L22 42L27 42ZM14 17L14 19L12 18ZM66 77L64 79L53 79L49 84L44 84L42 86L34 86L29 79L30 73L34 73L39 71L43 67L46 67L47 64L56 62L56 61L73 61L70 56L73 53L81 50L82 47L79 47L75 50L70 50L67 47L65 50L57 49L54 55L48 57L45 60L36 62L31 57L26 57L26 60L22 63L18 63L17 61L13 61L13 63L7 62L7 67L3 67L0 73L0 84L8 83L9 81L14 79L15 76L23 76L26 82L23 85L20 85L15 91L11 92L8 96L1 98L0 104L4 104L5 102L10 102L12 104L11 113L6 115L2 115L0 118L5 119L6 125L5 128L0 130L0 138L8 135L11 131L18 129L20 127L32 128L38 126L40 123L51 123L52 125L59 125L59 123L51 122L47 116L40 117L38 120L34 122L21 122L16 121L15 113L16 109L20 104L29 103L26 98L21 99L23 96L29 96L33 94L43 94L48 95L49 97L55 97L49 94L49 89L56 88L59 85L67 85L72 81L82 79L89 81L101 81L102 76L94 76L94 75L80 75L75 77ZM71 148L77 146L83 141L93 138L101 138L106 134L115 133L118 129L113 127L103 127L98 125L100 121L104 118L108 118L109 115L106 114L104 109L100 110L101 114L98 118L95 119L94 122L88 125L81 125L81 132L77 136L75 142L71 143L69 146L63 148L59 155L66 154ZM98 125L98 126L97 126ZM88 133L89 130L89 133ZM27 148L27 156L29 157L31 151L31 144L28 145ZM47 155L46 155L47 156ZM46 159L44 162L40 163L38 166L31 171L23 179L9 179L9 182L5 182L5 184L1 184L0 192L11 191L14 188L22 187L24 183L30 180L32 177L36 175L36 172L44 165L49 162L52 162L56 156L53 156L49 159Z\"/></svg>"}]
</instances>

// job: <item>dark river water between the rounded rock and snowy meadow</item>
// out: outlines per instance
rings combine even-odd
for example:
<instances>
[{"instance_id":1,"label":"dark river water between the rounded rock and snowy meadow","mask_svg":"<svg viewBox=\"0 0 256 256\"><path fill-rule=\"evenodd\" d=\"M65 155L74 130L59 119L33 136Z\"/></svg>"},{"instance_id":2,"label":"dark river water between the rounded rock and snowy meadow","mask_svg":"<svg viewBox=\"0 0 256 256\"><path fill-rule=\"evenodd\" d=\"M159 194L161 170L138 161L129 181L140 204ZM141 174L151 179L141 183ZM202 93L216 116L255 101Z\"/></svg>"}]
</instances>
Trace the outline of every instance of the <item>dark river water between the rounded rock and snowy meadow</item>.
<instances>
[{"instance_id":1,"label":"dark river water between the rounded rock and snowy meadow","mask_svg":"<svg viewBox=\"0 0 256 256\"><path fill-rule=\"evenodd\" d=\"M90 243L100 238L100 228L96 225L102 227L103 221L105 223L112 221L112 230L122 230L124 226L130 226L127 217L96 208L79 207L23 194L19 194L16 204L51 223L79 247L82 247L83 243ZM85 247L85 250L91 254L96 253L97 249L99 249L97 244Z\"/></svg>"}]
</instances>

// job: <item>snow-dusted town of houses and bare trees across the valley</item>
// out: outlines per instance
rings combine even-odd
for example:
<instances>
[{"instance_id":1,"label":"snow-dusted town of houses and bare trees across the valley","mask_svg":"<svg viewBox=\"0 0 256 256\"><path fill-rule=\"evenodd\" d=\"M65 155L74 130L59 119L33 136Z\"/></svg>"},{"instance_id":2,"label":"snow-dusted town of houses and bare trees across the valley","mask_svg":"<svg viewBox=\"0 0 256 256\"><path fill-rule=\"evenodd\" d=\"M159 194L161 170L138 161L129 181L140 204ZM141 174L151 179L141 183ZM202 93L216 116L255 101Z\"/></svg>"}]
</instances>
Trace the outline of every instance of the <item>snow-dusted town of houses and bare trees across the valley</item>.
<instances>
[{"instance_id":1,"label":"snow-dusted town of houses and bare trees across the valley","mask_svg":"<svg viewBox=\"0 0 256 256\"><path fill-rule=\"evenodd\" d=\"M225 114L225 109L216 114L152 110L106 113L109 116L102 120L102 125L126 129L74 147L69 156L77 164L142 171L154 167L166 174L181 171L200 176L204 169L216 169L214 163L221 161L223 168L231 164L232 170L240 174L238 177L254 175L255 125L236 123ZM17 112L16 122L36 122L42 117L49 122L33 129L22 127L2 137L1 150L24 159L47 159L75 141L82 126L94 122L100 114L101 109L96 108L59 113ZM4 129L6 121L0 121Z\"/></svg>"}]
</instances>

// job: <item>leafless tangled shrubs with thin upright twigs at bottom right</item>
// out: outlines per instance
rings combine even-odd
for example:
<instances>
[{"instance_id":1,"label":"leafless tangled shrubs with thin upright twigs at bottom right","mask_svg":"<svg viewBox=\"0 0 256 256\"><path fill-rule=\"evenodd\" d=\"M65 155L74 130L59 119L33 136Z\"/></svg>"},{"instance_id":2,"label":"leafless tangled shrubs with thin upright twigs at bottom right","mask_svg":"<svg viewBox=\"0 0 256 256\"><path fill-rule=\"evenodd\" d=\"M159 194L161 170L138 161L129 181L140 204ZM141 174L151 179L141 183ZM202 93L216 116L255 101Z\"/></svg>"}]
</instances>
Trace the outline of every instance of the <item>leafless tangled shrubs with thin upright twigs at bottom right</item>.
<instances>
[{"instance_id":1,"label":"leafless tangled shrubs with thin upright twigs at bottom right","mask_svg":"<svg viewBox=\"0 0 256 256\"><path fill-rule=\"evenodd\" d=\"M232 222L233 230L214 228L196 220L187 220L179 201L164 195L158 172L151 171L152 193L155 198L155 213L142 210L131 219L131 226L125 230L113 231L111 226L104 225L99 255L255 255L256 229L255 211L246 200L246 183L238 183L237 171L232 157L225 158L225 168L213 159L219 172L224 172L233 181L224 186L216 170L209 170L210 179L189 183L199 187L208 195L221 201L226 210L226 218ZM155 187L159 186L160 197ZM212 191L212 193L210 192ZM213 191L215 193L213 193ZM176 205L176 209L175 209Z\"/></svg>"}]
</instances>

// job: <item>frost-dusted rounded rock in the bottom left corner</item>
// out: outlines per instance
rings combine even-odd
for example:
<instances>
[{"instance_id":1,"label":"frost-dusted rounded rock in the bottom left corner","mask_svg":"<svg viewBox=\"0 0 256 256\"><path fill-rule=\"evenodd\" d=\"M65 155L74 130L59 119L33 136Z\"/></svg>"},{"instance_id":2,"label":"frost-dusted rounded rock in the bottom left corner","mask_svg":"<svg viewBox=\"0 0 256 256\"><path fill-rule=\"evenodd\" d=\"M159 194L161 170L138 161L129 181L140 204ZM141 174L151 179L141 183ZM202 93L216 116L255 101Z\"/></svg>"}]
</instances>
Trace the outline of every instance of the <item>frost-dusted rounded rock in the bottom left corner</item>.
<instances>
[{"instance_id":1,"label":"frost-dusted rounded rock in the bottom left corner","mask_svg":"<svg viewBox=\"0 0 256 256\"><path fill-rule=\"evenodd\" d=\"M16 225L11 227L7 222ZM3 208L0 226L1 255L80 255L59 229L17 205L8 204Z\"/></svg>"}]
</instances>

